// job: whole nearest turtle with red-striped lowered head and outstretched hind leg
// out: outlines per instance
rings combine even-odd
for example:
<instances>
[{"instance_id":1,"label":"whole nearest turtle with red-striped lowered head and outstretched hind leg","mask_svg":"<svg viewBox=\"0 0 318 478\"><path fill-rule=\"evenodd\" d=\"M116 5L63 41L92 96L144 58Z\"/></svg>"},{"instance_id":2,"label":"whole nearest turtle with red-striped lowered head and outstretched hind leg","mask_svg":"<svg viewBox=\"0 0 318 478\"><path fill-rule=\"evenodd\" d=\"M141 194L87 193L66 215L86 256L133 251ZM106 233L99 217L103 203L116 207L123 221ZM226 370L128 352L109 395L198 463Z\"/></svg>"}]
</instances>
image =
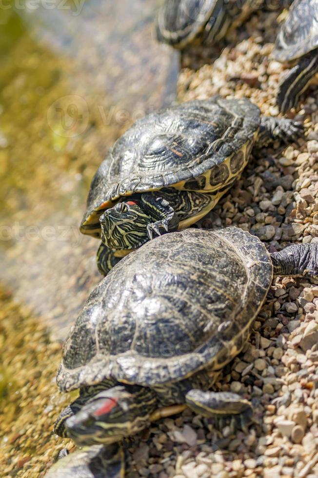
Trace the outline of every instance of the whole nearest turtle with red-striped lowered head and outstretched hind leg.
<instances>
[{"instance_id":1,"label":"whole nearest turtle with red-striped lowered head and outstretched hind leg","mask_svg":"<svg viewBox=\"0 0 318 478\"><path fill-rule=\"evenodd\" d=\"M210 389L247 342L276 275L317 280L318 244L270 254L234 226L189 228L126 256L92 291L64 343L57 384L80 395L55 432L80 447L121 446L186 406L247 431L251 402Z\"/></svg>"}]
</instances>

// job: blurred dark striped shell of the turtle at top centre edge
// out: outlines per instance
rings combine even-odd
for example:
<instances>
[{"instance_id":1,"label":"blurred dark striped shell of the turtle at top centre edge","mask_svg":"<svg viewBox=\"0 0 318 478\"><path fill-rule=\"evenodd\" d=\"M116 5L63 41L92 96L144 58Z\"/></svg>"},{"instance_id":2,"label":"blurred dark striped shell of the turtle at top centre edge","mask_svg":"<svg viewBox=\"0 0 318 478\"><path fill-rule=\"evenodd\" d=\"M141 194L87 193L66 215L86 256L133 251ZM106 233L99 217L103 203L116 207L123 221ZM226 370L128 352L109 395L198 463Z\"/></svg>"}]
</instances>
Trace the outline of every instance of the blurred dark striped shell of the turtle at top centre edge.
<instances>
[{"instance_id":1,"label":"blurred dark striped shell of the turtle at top centre edge","mask_svg":"<svg viewBox=\"0 0 318 478\"><path fill-rule=\"evenodd\" d=\"M212 15L217 17L223 0L167 0L157 20L159 41L182 48L205 27Z\"/></svg>"}]
</instances>

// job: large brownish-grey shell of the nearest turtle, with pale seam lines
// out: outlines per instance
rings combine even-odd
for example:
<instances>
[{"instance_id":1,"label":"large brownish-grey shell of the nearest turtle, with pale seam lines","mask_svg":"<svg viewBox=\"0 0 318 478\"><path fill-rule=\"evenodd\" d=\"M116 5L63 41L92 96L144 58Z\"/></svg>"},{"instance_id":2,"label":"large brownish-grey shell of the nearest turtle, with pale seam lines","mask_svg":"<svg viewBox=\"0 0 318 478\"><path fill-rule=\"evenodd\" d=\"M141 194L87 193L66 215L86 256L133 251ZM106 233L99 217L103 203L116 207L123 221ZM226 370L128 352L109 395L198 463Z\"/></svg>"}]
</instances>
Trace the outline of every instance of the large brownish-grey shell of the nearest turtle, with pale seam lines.
<instances>
[{"instance_id":1,"label":"large brownish-grey shell of the nearest turtle, with pale seam lines","mask_svg":"<svg viewBox=\"0 0 318 478\"><path fill-rule=\"evenodd\" d=\"M236 227L165 234L95 287L63 348L57 382L156 386L222 368L242 349L271 284L264 244Z\"/></svg>"}]
</instances>

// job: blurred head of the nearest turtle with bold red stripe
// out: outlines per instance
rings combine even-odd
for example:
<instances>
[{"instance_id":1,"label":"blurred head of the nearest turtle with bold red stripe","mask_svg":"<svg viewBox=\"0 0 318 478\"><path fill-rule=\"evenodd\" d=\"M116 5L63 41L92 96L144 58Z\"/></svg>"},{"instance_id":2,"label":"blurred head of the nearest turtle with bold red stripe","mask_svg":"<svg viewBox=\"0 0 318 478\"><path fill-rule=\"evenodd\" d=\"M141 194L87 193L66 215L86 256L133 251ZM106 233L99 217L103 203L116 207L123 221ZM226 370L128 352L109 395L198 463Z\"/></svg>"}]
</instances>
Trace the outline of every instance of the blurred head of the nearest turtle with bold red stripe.
<instances>
[{"instance_id":1,"label":"blurred head of the nearest turtle with bold red stripe","mask_svg":"<svg viewBox=\"0 0 318 478\"><path fill-rule=\"evenodd\" d=\"M114 443L145 428L156 408L150 389L119 385L90 398L65 421L66 435L78 446Z\"/></svg>"}]
</instances>

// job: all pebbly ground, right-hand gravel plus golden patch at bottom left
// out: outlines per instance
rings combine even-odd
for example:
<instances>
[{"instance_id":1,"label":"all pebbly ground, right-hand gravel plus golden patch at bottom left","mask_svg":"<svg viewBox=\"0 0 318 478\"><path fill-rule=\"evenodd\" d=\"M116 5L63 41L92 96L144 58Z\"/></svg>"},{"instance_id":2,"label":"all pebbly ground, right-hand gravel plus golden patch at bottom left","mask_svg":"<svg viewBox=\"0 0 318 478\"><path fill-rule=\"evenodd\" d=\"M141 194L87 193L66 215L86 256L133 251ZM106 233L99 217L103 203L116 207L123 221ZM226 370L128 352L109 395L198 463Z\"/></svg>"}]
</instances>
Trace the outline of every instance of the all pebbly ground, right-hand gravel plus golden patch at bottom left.
<instances>
[{"instance_id":1,"label":"all pebbly ground, right-hand gravel plus golden patch at bottom left","mask_svg":"<svg viewBox=\"0 0 318 478\"><path fill-rule=\"evenodd\" d=\"M207 50L201 55L204 61L184 55L179 101L215 93L245 96L262 113L277 116L275 95L285 71L270 59L276 17L274 12L254 15L238 32L235 46L225 48L213 64ZM198 70L189 68L205 61L209 64ZM317 100L312 89L297 112L289 115L304 123L305 138L288 147L277 143L257 151L201 226L237 225L256 234L270 251L293 241L318 242ZM0 346L12 327L17 328L17 338L6 345L12 350L1 372L6 400L0 415L1 470L4 476L41 477L62 446L72 448L70 441L52 433L54 418L66 400L54 382L60 345L50 342L18 304L9 309L10 313L1 311ZM128 476L317 477L317 343L318 286L304 279L275 279L249 343L217 383L218 390L252 400L255 423L249 433L230 435L227 426L217 432L212 419L185 410L154 423L127 443ZM22 361L17 350L26 349L31 358ZM14 383L6 378L8 370ZM31 385L25 380L29 373Z\"/></svg>"}]
</instances>

